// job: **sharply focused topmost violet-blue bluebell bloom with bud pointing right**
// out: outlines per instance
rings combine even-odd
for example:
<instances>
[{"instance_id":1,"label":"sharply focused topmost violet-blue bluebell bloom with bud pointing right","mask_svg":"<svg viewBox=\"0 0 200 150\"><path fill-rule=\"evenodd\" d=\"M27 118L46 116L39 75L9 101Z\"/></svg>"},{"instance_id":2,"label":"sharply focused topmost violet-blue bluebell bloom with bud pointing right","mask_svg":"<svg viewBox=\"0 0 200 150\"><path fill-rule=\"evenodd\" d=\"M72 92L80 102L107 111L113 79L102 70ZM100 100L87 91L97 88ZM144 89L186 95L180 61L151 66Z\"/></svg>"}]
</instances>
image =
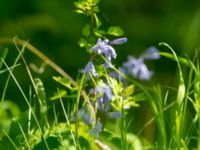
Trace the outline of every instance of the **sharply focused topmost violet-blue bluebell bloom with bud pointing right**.
<instances>
[{"instance_id":1,"label":"sharply focused topmost violet-blue bluebell bloom with bud pointing right","mask_svg":"<svg viewBox=\"0 0 200 150\"><path fill-rule=\"evenodd\" d=\"M105 39L104 41L101 40L101 38L98 38L97 40L97 44L95 46L93 46L90 50L96 51L99 55L104 54L106 56L106 59L108 62L105 62L104 66L106 68L110 67L110 63L112 58L116 58L117 54L115 52L115 49L109 45L109 44L115 44L115 45L119 45L119 44L123 44L127 42L127 38L119 38L119 39L115 39L111 42L109 42L108 39Z\"/></svg>"}]
</instances>

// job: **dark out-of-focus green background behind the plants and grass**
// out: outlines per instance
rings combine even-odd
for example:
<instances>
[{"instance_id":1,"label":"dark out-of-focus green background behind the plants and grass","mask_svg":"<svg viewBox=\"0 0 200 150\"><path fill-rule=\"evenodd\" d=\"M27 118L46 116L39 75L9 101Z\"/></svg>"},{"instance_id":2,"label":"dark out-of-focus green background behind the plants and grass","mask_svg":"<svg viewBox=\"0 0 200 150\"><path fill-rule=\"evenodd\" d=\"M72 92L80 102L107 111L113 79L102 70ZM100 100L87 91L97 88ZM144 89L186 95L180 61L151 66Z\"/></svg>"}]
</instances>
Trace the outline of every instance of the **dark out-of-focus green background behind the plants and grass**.
<instances>
[{"instance_id":1,"label":"dark out-of-focus green background behind the plants and grass","mask_svg":"<svg viewBox=\"0 0 200 150\"><path fill-rule=\"evenodd\" d=\"M79 48L78 40L82 36L82 28L88 18L75 13L74 0L1 0L0 1L0 37L18 36L29 42L55 61L72 77L76 78L77 71L88 61L87 53ZM138 56L149 46L159 42L167 42L178 54L194 54L200 41L200 1L199 0L101 0L100 18L104 29L110 25L120 26L125 31L128 43L117 47L117 66L126 61L129 54ZM0 45L0 50L9 47L7 62L12 63L17 56L15 47ZM25 53L28 63L37 66L41 61L30 52ZM162 58L150 62L154 70L153 81L164 84L173 80L175 63ZM27 89L30 80L24 74L24 68L15 72L19 82ZM50 68L43 75L35 74L44 79L49 91L55 91ZM166 80L166 78L168 80ZM4 87L5 76L1 75L0 92ZM28 82L28 85L26 84ZM48 87L50 85L50 87ZM52 88L53 87L53 88ZM10 83L15 89L15 83ZM10 90L8 99L15 99L17 90ZM19 94L20 95L20 94ZM51 96L51 95L48 95Z\"/></svg>"}]
</instances>

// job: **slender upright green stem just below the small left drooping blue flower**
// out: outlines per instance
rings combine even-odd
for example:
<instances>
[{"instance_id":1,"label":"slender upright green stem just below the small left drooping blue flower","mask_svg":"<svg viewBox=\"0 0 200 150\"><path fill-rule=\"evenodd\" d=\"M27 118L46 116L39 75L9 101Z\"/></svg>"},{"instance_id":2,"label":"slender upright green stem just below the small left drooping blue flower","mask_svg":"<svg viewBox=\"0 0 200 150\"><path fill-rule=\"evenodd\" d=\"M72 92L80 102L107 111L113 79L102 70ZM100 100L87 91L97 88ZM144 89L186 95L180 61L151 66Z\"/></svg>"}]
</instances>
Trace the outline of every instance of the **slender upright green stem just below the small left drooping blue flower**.
<instances>
[{"instance_id":1,"label":"slender upright green stem just below the small left drooping blue flower","mask_svg":"<svg viewBox=\"0 0 200 150\"><path fill-rule=\"evenodd\" d=\"M75 118L76 118L76 121L75 121L75 139L76 139L77 149L80 149L79 140L78 140L78 136L79 136L79 134L78 134L78 125L79 125L78 109L79 109L79 101L80 101L80 96L81 96L81 92L82 92L84 79L85 79L85 73L81 77L81 82L80 82L80 85L78 87L78 94L77 94L77 97L76 97L76 106L75 106Z\"/></svg>"}]
</instances>

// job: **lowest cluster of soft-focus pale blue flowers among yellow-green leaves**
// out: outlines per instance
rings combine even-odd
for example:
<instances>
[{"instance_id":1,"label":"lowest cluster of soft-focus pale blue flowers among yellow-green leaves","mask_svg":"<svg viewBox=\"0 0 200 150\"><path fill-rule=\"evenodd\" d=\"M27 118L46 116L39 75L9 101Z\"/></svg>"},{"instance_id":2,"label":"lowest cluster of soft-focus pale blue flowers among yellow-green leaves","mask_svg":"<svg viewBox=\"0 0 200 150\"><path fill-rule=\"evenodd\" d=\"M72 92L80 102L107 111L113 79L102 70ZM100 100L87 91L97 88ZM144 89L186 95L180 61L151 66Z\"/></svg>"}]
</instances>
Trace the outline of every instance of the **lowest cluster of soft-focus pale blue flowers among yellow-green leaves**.
<instances>
[{"instance_id":1,"label":"lowest cluster of soft-focus pale blue flowers among yellow-green leaves","mask_svg":"<svg viewBox=\"0 0 200 150\"><path fill-rule=\"evenodd\" d=\"M89 130L89 133L93 136L98 137L99 133L101 132L103 128L103 122L102 120L105 119L105 117L109 118L120 118L121 113L119 111L112 111L112 108L110 107L110 103L113 99L113 92L111 87L107 83L100 83L96 89L91 89L90 93L93 95L96 93L97 102L93 103L93 107L96 108L97 113L102 114L102 116L99 116L99 119L97 120L96 125L94 128ZM94 101L93 101L94 102ZM94 119L88 108L80 109L78 111L79 119L84 121L88 125L92 125L96 119ZM103 118L102 118L103 117ZM75 118L72 117L72 121L74 121Z\"/></svg>"}]
</instances>

